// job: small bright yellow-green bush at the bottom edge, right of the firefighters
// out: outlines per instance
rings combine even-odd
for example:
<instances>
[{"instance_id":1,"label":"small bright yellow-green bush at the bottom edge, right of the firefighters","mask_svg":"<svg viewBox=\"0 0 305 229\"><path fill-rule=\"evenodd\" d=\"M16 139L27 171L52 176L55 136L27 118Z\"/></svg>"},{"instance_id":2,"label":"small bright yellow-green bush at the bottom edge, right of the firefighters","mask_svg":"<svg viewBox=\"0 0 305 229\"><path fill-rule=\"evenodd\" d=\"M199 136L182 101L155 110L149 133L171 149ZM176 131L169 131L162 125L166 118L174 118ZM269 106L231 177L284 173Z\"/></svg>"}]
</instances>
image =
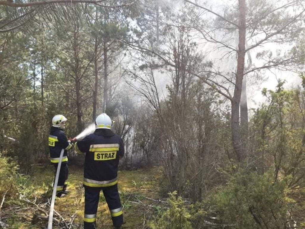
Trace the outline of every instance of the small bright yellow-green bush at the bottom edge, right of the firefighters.
<instances>
[{"instance_id":1,"label":"small bright yellow-green bush at the bottom edge, right of the firefighters","mask_svg":"<svg viewBox=\"0 0 305 229\"><path fill-rule=\"evenodd\" d=\"M161 218L150 222L152 229L192 229L190 222L191 215L184 205L183 199L177 197L177 192L169 193L168 202L170 208L167 209Z\"/></svg>"}]
</instances>

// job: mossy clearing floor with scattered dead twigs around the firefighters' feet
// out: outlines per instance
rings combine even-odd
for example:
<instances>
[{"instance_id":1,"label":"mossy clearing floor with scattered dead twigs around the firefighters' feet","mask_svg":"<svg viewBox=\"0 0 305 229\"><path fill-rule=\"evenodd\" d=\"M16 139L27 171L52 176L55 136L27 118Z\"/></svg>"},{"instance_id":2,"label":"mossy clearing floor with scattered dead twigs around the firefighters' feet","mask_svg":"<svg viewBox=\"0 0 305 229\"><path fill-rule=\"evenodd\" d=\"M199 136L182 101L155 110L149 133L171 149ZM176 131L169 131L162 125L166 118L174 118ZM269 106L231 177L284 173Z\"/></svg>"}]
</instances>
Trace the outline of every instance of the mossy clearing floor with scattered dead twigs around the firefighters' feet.
<instances>
[{"instance_id":1,"label":"mossy clearing floor with scattered dead twigs around the firefighters' feet","mask_svg":"<svg viewBox=\"0 0 305 229\"><path fill-rule=\"evenodd\" d=\"M34 187L34 197L31 200L25 199L25 206L20 206L20 210L13 207L8 209L8 211L11 211L11 213L7 212L10 216L6 217L5 220L5 223L9 225L8 228L47 228L54 170L52 165L36 166L34 170L29 182ZM157 213L167 205L164 202L166 199L160 196L161 168L150 167L134 171L121 170L118 177L118 187L124 213L122 229L149 228L148 221L153 216L157 216ZM69 166L69 194L63 198L56 198L54 209L58 214L55 212L54 218L58 221L53 221L54 229L83 228L84 188L82 180L83 168ZM16 206L16 208L18 207ZM113 228L102 191L96 226L97 229Z\"/></svg>"}]
</instances>

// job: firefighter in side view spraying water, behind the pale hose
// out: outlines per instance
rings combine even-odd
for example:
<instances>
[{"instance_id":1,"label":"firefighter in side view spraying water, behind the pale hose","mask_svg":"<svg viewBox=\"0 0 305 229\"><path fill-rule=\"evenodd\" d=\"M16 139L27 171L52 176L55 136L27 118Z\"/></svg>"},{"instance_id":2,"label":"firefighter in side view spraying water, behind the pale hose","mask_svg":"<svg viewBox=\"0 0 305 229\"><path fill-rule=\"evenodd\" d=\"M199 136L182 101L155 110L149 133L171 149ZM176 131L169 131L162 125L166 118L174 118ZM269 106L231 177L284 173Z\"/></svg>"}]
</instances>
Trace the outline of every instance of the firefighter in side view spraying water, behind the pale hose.
<instances>
[{"instance_id":1,"label":"firefighter in side view spraying water, behind the pale hose","mask_svg":"<svg viewBox=\"0 0 305 229\"><path fill-rule=\"evenodd\" d=\"M52 118L52 127L48 138L51 162L55 167L55 174L59 162L60 152L64 149L62 164L59 171L59 179L56 189L56 196L63 197L66 194L68 182L68 157L67 150L71 149L72 144L67 140L63 129L65 128L67 118L63 115L55 115ZM55 181L55 178L54 178Z\"/></svg>"}]
</instances>

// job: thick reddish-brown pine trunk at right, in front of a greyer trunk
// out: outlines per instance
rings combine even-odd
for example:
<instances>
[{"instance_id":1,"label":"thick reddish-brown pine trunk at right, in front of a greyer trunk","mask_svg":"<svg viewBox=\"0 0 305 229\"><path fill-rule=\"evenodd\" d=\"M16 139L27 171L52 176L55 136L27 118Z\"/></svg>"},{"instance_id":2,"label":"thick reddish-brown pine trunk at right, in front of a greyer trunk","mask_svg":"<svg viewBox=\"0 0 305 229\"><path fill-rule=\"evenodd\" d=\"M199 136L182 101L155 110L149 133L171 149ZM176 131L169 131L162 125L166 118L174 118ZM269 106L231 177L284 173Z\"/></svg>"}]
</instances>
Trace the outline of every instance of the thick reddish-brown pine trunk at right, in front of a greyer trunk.
<instances>
[{"instance_id":1,"label":"thick reddish-brown pine trunk at right, in front of a greyer trunk","mask_svg":"<svg viewBox=\"0 0 305 229\"><path fill-rule=\"evenodd\" d=\"M240 137L239 125L239 104L242 93L242 79L245 67L245 50L246 50L246 0L239 0L239 43L237 52L237 71L236 81L234 88L234 96L231 101L231 132L232 132L232 145L237 157L241 162L246 154L245 146L242 144Z\"/></svg>"}]
</instances>

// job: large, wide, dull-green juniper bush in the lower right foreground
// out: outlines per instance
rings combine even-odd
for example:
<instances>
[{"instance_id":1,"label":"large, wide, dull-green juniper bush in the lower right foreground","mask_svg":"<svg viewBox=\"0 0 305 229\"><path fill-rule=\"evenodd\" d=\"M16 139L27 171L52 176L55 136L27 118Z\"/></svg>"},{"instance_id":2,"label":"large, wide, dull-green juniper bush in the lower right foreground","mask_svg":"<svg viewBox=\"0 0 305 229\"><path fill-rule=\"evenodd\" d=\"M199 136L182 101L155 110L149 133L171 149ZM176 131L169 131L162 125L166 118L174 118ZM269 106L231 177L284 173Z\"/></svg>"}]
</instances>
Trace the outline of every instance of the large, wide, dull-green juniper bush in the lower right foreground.
<instances>
[{"instance_id":1,"label":"large, wide, dull-green juniper bush in the lower right foreground","mask_svg":"<svg viewBox=\"0 0 305 229\"><path fill-rule=\"evenodd\" d=\"M288 196L286 184L285 180L274 182L272 171L263 175L241 171L210 197L208 213L203 215L222 225L219 228L225 225L236 229L285 227L288 211L297 208Z\"/></svg>"}]
</instances>

